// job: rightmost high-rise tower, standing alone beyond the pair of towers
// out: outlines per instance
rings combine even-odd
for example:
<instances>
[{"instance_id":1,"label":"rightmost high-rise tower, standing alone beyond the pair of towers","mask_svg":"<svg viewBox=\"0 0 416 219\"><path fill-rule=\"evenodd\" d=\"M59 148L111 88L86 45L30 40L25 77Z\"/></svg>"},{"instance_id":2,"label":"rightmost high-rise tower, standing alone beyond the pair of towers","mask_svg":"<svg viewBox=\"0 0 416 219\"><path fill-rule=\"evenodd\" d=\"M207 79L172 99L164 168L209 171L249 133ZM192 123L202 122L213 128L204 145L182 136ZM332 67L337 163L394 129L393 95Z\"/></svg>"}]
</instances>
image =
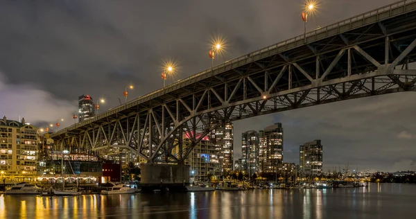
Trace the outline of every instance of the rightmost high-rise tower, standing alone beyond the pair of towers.
<instances>
[{"instance_id":1,"label":"rightmost high-rise tower, standing alone beyond the pair of towers","mask_svg":"<svg viewBox=\"0 0 416 219\"><path fill-rule=\"evenodd\" d=\"M322 174L322 144L321 140L310 141L300 146L299 165L304 175Z\"/></svg>"}]
</instances>

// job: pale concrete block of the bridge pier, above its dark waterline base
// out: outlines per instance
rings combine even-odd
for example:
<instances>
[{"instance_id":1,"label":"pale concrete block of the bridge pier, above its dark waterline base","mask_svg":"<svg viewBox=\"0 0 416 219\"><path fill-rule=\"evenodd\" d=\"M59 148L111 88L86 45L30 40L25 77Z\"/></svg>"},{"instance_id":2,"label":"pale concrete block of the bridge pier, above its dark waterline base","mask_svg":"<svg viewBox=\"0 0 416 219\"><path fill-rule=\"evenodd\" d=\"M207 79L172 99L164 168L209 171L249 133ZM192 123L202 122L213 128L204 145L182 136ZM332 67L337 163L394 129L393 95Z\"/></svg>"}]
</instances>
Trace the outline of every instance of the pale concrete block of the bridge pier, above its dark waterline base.
<instances>
[{"instance_id":1,"label":"pale concrete block of the bridge pier, above its dark waterline base","mask_svg":"<svg viewBox=\"0 0 416 219\"><path fill-rule=\"evenodd\" d=\"M189 184L189 166L140 164L141 184Z\"/></svg>"}]
</instances>

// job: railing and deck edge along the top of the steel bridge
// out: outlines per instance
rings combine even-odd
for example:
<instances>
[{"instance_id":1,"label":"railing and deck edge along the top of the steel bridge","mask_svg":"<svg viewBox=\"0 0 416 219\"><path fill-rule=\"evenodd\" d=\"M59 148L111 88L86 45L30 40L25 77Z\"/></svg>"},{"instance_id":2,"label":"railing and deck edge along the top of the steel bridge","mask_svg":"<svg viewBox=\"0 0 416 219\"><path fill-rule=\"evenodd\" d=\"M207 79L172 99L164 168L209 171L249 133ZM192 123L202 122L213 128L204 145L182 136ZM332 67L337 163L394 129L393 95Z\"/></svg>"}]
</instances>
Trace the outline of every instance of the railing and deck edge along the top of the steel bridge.
<instances>
[{"instance_id":1,"label":"railing and deck edge along the top of the steel bridge","mask_svg":"<svg viewBox=\"0 0 416 219\"><path fill-rule=\"evenodd\" d=\"M324 37L329 37L330 35L336 35L339 34L340 32L344 32L346 30L351 30L353 28L359 28L361 26L365 26L368 23L365 23L365 19L368 19L369 17L373 17L376 15L376 19L375 20L371 20L369 21L370 23L374 23L375 21L379 21L379 15L385 13L385 12L389 12L388 15L386 15L385 17L382 17L381 19L386 19L388 17L392 17L392 16L396 16L396 15L400 15L403 14L404 12L408 12L408 10L406 10L406 6L410 6L413 5L413 8L410 8L410 10L415 10L416 9L416 0L402 0L402 1L397 1L395 3L391 3L388 6L383 6L381 8L376 8L374 10L370 10L369 12L365 12L361 15L356 15L354 17L350 17L348 19L343 19L340 21L336 21L333 24L329 24L328 26L324 26L322 28L318 28L312 31L309 31L308 33L306 33L306 44L309 43L308 42L308 38L315 36L314 39L312 39L311 41L315 41L315 40L320 40ZM403 7L403 10L395 12L394 10L397 8L401 8ZM355 24L354 26L352 26L352 24L354 24L354 22L358 22L358 21L362 21L361 25L360 24ZM345 28L345 30L340 31L340 27L343 26L347 26L349 25L349 27ZM328 34L330 30L336 30L334 31L332 34ZM322 33L326 33L323 37L318 38L316 36L322 34ZM112 109L107 110L106 112L103 112L101 114L98 114L97 116L95 116L93 119L89 119L87 121L82 121L80 123L76 123L74 125L71 125L67 128L64 128L58 132L53 133L53 135L56 134L63 134L64 132L67 132L67 130L73 130L75 128L79 128L81 126L87 125L89 123L92 123L96 120L99 119L103 119L107 116L110 116L112 114L115 114L117 112L121 112L123 109L128 109L130 107L133 107L135 105L138 105L139 103L144 103L152 98L155 98L157 96L161 96L163 94L166 94L169 91L173 91L175 89L179 89L181 87L190 85L193 82L196 82L200 79L202 79L203 76L205 76L205 78L209 77L209 76L214 76L222 71L220 71L220 69L226 69L227 66L229 65L236 65L236 67L239 67L245 63L240 64L239 62L243 61L243 60L248 60L248 58L252 58L253 60L257 60L260 58L263 58L263 56L261 56L261 54L264 53L269 53L270 55L270 51L279 51L279 49L288 49L288 46L291 45L289 47L289 49L296 47L296 46L300 46L305 44L305 40L304 40L304 35L298 35L296 37L293 37L291 39L288 40L284 40L283 42L279 42L277 44L274 44L272 46L267 46L263 49L259 49L258 51L254 51L252 53L249 53L248 55L242 55L239 58L235 58L233 60L229 60L227 62L224 62L222 64L218 64L216 66L214 66L211 69L207 69L205 71L202 71L200 73L196 73L193 76L189 76L188 78L184 78L183 80L177 80L176 82L173 82L171 85L167 85L166 87L162 88L162 89L157 89L156 91L151 92L150 94L146 94L144 96L140 96L139 98L135 98L134 100L130 100L128 101L128 103L125 103L123 105L120 105L119 107L114 107ZM255 57L257 57L257 59L255 59ZM217 71L217 73L214 73L214 70ZM199 78L199 79L198 79Z\"/></svg>"}]
</instances>

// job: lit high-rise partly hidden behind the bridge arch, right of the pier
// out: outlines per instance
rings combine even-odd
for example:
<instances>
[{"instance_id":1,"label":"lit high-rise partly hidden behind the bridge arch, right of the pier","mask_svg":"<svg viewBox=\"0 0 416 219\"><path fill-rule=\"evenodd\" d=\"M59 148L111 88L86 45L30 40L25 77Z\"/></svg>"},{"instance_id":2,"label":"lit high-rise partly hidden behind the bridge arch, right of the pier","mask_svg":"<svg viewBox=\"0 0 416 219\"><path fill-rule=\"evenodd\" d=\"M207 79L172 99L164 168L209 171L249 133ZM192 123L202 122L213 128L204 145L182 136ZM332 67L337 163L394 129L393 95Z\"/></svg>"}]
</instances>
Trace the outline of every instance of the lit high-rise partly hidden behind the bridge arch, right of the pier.
<instances>
[{"instance_id":1,"label":"lit high-rise partly hidden behind the bridge arch, right of the pier","mask_svg":"<svg viewBox=\"0 0 416 219\"><path fill-rule=\"evenodd\" d=\"M211 133L211 140L214 141L219 152L220 164L222 165L222 173L233 169L234 159L234 136L232 123L226 123Z\"/></svg>"}]
</instances>

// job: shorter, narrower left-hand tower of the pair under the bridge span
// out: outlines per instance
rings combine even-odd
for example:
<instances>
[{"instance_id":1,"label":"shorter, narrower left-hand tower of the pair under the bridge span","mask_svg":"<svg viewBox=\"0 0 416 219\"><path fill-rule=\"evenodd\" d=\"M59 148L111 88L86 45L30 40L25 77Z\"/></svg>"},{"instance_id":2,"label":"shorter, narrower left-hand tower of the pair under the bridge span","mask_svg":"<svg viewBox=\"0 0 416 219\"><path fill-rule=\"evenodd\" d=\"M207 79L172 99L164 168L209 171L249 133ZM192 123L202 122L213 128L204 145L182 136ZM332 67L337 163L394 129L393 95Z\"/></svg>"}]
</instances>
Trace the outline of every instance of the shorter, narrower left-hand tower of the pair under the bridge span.
<instances>
[{"instance_id":1,"label":"shorter, narrower left-hand tower of the pair under the bridge span","mask_svg":"<svg viewBox=\"0 0 416 219\"><path fill-rule=\"evenodd\" d=\"M259 132L247 131L241 134L243 170L249 176L259 171Z\"/></svg>"}]
</instances>

